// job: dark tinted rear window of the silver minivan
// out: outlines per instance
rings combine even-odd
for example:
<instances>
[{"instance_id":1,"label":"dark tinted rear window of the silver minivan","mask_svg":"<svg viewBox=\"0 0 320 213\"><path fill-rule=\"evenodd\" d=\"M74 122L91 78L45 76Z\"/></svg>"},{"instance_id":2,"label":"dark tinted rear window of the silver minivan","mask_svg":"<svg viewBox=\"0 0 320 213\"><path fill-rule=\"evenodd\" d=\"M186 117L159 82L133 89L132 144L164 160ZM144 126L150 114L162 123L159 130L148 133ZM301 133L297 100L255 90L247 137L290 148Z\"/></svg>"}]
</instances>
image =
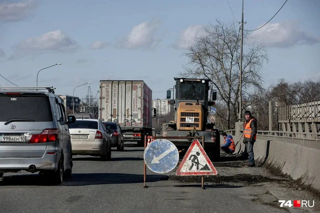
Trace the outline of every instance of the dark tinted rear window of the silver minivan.
<instances>
[{"instance_id":1,"label":"dark tinted rear window of the silver minivan","mask_svg":"<svg viewBox=\"0 0 320 213\"><path fill-rule=\"evenodd\" d=\"M28 119L52 122L52 110L47 96L0 95L0 122Z\"/></svg>"}]
</instances>

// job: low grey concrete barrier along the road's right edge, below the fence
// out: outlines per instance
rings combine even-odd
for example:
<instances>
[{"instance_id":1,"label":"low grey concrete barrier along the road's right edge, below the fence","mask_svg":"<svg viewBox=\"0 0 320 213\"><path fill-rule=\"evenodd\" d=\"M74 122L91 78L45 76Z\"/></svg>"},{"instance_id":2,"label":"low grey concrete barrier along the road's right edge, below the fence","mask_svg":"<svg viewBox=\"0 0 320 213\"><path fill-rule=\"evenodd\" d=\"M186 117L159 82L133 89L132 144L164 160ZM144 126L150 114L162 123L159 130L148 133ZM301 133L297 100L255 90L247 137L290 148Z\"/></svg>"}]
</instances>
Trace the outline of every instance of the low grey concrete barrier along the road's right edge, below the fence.
<instances>
[{"instance_id":1,"label":"low grey concrete barrier along the road's right edge, below the fence","mask_svg":"<svg viewBox=\"0 0 320 213\"><path fill-rule=\"evenodd\" d=\"M239 136L233 136L235 143ZM223 143L223 137L220 140ZM244 151L243 139L236 146L236 153ZM284 175L320 192L320 149L294 143L258 139L253 147L256 165L278 170Z\"/></svg>"}]
</instances>

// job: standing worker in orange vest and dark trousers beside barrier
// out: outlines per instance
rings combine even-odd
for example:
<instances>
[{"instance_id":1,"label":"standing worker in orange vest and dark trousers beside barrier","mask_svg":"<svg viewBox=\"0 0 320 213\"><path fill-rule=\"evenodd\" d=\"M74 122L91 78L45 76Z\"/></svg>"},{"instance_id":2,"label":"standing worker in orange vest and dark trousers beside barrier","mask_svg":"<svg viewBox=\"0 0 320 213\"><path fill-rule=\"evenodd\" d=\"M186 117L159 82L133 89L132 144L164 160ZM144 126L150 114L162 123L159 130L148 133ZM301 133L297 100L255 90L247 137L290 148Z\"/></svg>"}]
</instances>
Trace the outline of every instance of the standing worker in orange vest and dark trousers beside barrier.
<instances>
[{"instance_id":1,"label":"standing worker in orange vest and dark trousers beside barrier","mask_svg":"<svg viewBox=\"0 0 320 213\"><path fill-rule=\"evenodd\" d=\"M253 145L257 139L257 119L251 115L249 110L244 112L245 122L243 124L244 153L249 157L249 164L246 167L255 167Z\"/></svg>"}]
</instances>

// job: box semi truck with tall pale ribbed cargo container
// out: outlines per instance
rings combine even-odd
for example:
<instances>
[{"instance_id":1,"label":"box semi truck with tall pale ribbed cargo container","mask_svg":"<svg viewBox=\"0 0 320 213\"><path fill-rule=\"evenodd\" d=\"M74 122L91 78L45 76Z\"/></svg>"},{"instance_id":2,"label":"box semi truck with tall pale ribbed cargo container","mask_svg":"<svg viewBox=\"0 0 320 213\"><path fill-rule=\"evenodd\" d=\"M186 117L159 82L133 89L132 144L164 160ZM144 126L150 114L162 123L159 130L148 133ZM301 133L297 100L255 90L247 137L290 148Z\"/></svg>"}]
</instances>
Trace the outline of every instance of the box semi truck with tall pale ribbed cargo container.
<instances>
[{"instance_id":1,"label":"box semi truck with tall pale ribbed cargo container","mask_svg":"<svg viewBox=\"0 0 320 213\"><path fill-rule=\"evenodd\" d=\"M99 119L118 123L124 142L144 145L144 136L152 135L152 90L140 80L100 80Z\"/></svg>"}]
</instances>

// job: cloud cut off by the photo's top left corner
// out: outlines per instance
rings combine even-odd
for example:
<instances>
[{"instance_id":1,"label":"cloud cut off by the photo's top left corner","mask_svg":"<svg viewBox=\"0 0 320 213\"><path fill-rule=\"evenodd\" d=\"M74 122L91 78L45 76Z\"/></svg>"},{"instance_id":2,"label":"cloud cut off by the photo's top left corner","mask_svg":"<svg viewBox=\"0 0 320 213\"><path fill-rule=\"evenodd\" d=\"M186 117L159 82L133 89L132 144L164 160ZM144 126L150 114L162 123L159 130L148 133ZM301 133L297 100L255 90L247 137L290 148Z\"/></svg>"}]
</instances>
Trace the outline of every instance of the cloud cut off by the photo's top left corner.
<instances>
[{"instance_id":1,"label":"cloud cut off by the photo's top left corner","mask_svg":"<svg viewBox=\"0 0 320 213\"><path fill-rule=\"evenodd\" d=\"M0 21L19 21L30 17L38 7L40 0L0 3Z\"/></svg>"}]
</instances>

